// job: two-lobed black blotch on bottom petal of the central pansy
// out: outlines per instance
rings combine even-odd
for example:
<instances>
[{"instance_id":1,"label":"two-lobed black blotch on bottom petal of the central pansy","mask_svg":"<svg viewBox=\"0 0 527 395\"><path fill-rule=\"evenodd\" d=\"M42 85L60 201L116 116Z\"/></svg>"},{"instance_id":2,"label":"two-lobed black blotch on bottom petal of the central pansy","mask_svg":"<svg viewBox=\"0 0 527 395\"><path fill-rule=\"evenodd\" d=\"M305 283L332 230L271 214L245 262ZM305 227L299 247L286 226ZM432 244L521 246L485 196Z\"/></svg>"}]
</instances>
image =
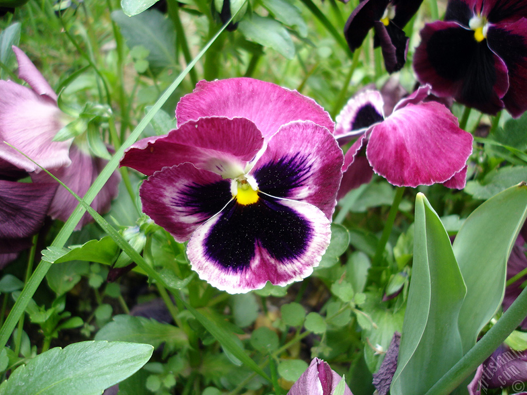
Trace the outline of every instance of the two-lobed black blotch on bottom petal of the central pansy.
<instances>
[{"instance_id":1,"label":"two-lobed black blotch on bottom petal of the central pansy","mask_svg":"<svg viewBox=\"0 0 527 395\"><path fill-rule=\"evenodd\" d=\"M311 240L310 221L268 196L257 203L230 202L210 229L204 243L205 254L228 270L249 267L256 246L271 258L285 262L306 252Z\"/></svg>"}]
</instances>

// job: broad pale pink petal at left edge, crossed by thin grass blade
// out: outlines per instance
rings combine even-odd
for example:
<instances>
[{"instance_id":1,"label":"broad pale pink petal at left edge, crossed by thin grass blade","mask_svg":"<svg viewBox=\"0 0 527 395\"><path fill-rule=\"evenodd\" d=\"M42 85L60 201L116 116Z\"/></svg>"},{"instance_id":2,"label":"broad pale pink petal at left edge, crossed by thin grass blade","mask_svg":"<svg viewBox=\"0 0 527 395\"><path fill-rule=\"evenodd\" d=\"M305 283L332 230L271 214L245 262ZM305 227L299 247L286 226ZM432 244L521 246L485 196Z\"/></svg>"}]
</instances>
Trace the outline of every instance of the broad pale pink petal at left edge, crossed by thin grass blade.
<instances>
[{"instance_id":1,"label":"broad pale pink petal at left edge, crossed by thin grass blade","mask_svg":"<svg viewBox=\"0 0 527 395\"><path fill-rule=\"evenodd\" d=\"M0 142L13 145L45 169L67 166L71 140L52 141L63 126L61 111L43 97L12 81L0 81ZM0 144L0 158L28 172L41 171L7 144Z\"/></svg>"}]
</instances>

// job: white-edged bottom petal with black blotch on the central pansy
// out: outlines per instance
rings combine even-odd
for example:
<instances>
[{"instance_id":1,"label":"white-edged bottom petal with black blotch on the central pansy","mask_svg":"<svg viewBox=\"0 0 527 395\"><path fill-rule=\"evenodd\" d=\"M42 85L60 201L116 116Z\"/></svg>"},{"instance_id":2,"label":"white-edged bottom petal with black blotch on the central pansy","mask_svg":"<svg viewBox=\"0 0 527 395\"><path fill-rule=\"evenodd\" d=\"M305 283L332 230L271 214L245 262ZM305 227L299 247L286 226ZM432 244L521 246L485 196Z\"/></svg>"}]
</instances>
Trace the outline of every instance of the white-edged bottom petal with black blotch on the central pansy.
<instances>
[{"instance_id":1,"label":"white-edged bottom petal with black blotch on the central pansy","mask_svg":"<svg viewBox=\"0 0 527 395\"><path fill-rule=\"evenodd\" d=\"M330 223L314 205L261 196L232 201L201 225L187 246L201 279L229 293L286 285L306 278L330 239Z\"/></svg>"}]
</instances>

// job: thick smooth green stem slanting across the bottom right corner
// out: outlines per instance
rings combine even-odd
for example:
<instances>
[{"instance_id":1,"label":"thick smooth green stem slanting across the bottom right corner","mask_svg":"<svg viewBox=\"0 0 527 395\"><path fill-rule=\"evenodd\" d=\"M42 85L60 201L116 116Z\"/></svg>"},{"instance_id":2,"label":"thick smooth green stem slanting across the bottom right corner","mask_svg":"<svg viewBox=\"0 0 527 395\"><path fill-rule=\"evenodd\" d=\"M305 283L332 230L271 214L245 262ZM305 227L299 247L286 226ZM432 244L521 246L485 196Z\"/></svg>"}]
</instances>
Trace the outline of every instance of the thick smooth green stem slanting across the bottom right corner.
<instances>
[{"instance_id":1,"label":"thick smooth green stem slanting across the bottom right corner","mask_svg":"<svg viewBox=\"0 0 527 395\"><path fill-rule=\"evenodd\" d=\"M518 327L525 319L525 311L527 311L527 288L520 293L496 324L425 395L451 393Z\"/></svg>"}]
</instances>

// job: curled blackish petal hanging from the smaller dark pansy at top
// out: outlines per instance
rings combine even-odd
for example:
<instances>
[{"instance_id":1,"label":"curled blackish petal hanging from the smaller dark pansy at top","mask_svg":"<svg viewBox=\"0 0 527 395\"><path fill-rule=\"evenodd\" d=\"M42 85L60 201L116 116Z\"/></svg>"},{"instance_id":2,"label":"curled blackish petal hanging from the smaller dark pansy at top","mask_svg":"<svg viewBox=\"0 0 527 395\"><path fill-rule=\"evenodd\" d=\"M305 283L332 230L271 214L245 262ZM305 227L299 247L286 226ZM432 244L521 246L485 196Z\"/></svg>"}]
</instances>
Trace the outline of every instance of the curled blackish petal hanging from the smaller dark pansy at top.
<instances>
[{"instance_id":1,"label":"curled blackish petal hanging from the smaller dark pansy at top","mask_svg":"<svg viewBox=\"0 0 527 395\"><path fill-rule=\"evenodd\" d=\"M386 26L383 22L374 22L377 43L383 53L384 66L389 74L401 70L406 62L409 38L403 29L389 22Z\"/></svg>"}]
</instances>

